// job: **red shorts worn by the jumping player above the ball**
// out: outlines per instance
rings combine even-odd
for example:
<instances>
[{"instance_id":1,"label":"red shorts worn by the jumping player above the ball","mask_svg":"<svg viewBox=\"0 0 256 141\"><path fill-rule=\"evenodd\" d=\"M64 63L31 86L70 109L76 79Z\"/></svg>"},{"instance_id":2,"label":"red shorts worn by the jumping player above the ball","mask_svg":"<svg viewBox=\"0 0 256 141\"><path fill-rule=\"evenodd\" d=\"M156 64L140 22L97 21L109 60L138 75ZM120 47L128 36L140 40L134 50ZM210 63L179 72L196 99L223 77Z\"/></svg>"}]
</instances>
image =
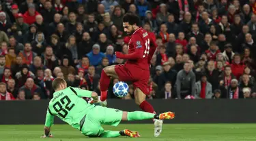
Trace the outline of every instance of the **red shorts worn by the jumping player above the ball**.
<instances>
[{"instance_id":1,"label":"red shorts worn by the jumping player above the ball","mask_svg":"<svg viewBox=\"0 0 256 141\"><path fill-rule=\"evenodd\" d=\"M132 81L134 89L141 89L144 94L149 94L147 83L150 79L150 71L137 68L132 65L118 64L115 65L115 73L119 81Z\"/></svg>"}]
</instances>

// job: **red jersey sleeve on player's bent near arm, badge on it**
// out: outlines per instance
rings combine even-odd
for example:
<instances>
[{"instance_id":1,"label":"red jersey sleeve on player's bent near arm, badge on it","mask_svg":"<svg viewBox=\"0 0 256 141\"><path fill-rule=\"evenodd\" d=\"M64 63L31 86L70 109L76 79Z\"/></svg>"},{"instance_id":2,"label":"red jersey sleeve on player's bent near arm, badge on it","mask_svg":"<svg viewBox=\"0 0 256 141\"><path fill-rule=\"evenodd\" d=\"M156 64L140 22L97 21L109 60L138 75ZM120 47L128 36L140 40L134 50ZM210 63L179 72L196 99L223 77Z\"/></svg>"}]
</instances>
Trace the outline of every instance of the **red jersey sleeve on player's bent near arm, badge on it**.
<instances>
[{"instance_id":1,"label":"red jersey sleeve on player's bent near arm, badge on it","mask_svg":"<svg viewBox=\"0 0 256 141\"><path fill-rule=\"evenodd\" d=\"M139 35L133 35L130 40L130 45L134 47L134 52L130 54L122 54L120 52L116 52L117 58L120 59L128 59L128 60L138 60L143 58L143 51L145 50L145 45L143 45L143 40Z\"/></svg>"}]
</instances>

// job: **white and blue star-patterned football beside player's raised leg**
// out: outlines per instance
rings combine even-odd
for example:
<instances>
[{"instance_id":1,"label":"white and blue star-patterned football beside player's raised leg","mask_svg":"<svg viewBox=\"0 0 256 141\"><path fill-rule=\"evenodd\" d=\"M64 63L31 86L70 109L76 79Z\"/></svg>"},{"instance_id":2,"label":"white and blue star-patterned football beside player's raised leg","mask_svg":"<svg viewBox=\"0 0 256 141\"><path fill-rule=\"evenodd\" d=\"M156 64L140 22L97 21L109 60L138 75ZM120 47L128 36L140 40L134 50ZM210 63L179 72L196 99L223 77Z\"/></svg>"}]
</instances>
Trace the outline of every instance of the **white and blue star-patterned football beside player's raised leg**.
<instances>
[{"instance_id":1,"label":"white and blue star-patterned football beside player's raised leg","mask_svg":"<svg viewBox=\"0 0 256 141\"><path fill-rule=\"evenodd\" d=\"M118 98L123 98L124 96L126 96L128 94L128 90L129 90L129 86L125 82L117 82L113 86L113 93Z\"/></svg>"}]
</instances>

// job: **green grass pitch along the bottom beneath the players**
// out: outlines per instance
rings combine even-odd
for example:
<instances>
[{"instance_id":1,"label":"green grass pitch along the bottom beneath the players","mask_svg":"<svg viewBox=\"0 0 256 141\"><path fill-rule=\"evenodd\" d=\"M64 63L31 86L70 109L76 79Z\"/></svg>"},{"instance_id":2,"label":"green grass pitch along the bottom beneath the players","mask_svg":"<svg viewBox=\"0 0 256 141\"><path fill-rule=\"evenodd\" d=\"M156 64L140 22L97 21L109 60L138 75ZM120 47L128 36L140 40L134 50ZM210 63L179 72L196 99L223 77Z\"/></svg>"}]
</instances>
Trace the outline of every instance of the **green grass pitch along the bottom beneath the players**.
<instances>
[{"instance_id":1,"label":"green grass pitch along the bottom beneath the players","mask_svg":"<svg viewBox=\"0 0 256 141\"><path fill-rule=\"evenodd\" d=\"M0 141L82 141L82 140L171 140L171 141L225 141L225 140L256 140L256 124L165 124L162 134L154 138L154 125L122 124L118 127L104 126L104 129L122 130L125 128L137 130L141 138L86 138L70 125L53 125L51 133L55 138L40 138L43 125L0 125Z\"/></svg>"}]
</instances>

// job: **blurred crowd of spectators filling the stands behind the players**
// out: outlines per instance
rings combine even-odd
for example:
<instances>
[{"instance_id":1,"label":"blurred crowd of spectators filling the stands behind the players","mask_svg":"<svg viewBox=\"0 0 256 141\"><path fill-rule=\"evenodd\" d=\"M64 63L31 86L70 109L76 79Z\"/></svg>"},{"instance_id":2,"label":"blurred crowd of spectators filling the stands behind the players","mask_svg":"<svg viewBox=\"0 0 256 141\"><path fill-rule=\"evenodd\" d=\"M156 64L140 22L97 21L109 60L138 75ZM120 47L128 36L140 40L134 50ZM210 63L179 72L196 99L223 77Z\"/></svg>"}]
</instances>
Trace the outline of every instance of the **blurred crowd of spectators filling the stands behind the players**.
<instances>
[{"instance_id":1,"label":"blurred crowd of spectators filling the stands behind the players","mask_svg":"<svg viewBox=\"0 0 256 141\"><path fill-rule=\"evenodd\" d=\"M55 77L100 94L102 68L126 62L127 12L158 45L147 98L256 97L255 0L1 0L0 100L52 98Z\"/></svg>"}]
</instances>

